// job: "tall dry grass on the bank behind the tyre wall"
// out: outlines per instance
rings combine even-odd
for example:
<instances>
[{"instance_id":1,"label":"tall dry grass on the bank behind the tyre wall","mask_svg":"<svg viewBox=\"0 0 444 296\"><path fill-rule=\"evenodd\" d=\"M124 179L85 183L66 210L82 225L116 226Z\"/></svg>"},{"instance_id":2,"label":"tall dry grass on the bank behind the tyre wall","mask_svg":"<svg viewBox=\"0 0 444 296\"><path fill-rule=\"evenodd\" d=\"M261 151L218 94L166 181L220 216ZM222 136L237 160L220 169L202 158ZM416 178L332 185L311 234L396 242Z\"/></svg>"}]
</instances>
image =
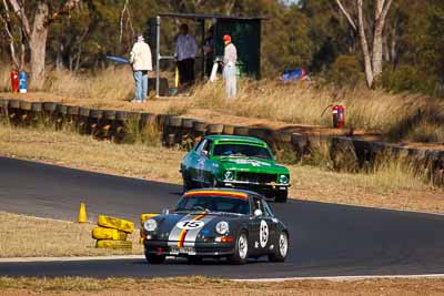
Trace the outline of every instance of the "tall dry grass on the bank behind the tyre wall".
<instances>
[{"instance_id":1,"label":"tall dry grass on the bank behind the tyre wall","mask_svg":"<svg viewBox=\"0 0 444 296\"><path fill-rule=\"evenodd\" d=\"M4 78L4 73L2 75L0 83L4 89L9 85L9 81ZM48 79L46 93L31 92L27 95L12 96L61 101L92 108L144 110L189 118L198 116L210 122L272 126L285 124L330 126L331 112L327 108L332 104L343 104L346 106L346 122L350 127L387 134L386 139L394 141L418 139L408 136L411 126L406 125L418 110L424 111L433 106L433 110L444 111L442 102L424 95L391 94L366 89L319 89L304 83L282 85L266 80L240 81L239 96L234 101L225 100L221 81L198 84L191 96L158 99L143 105L129 103L132 95L132 72L130 68L119 67L89 74L52 72ZM1 96L11 96L11 94L3 93ZM245 121L245 118L250 120ZM426 113L422 123L431 124L434 120ZM401 137L400 133L403 133Z\"/></svg>"}]
</instances>

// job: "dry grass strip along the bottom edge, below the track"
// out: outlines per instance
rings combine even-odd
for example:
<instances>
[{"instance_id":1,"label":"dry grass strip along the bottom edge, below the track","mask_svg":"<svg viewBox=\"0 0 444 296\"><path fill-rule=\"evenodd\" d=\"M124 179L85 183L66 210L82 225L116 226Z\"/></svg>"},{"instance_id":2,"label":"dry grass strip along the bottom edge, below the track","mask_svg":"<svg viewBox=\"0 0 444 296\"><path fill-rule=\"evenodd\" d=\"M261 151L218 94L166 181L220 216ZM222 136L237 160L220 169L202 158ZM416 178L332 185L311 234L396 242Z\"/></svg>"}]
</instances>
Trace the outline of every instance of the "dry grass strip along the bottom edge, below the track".
<instances>
[{"instance_id":1,"label":"dry grass strip along the bottom edge, below the track","mask_svg":"<svg viewBox=\"0 0 444 296\"><path fill-rule=\"evenodd\" d=\"M442 295L443 278L230 282L208 277L176 278L9 278L2 295Z\"/></svg>"}]
</instances>

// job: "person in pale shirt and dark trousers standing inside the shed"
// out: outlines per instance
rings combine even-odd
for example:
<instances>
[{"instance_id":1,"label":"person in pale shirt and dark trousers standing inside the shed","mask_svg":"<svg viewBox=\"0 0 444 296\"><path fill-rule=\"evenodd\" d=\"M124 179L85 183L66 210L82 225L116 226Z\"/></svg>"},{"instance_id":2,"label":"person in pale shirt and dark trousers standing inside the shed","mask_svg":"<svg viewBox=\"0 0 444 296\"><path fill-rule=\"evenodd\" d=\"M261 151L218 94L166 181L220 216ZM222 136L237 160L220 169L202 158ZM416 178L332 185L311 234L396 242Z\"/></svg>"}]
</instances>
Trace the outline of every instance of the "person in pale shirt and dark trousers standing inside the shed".
<instances>
[{"instance_id":1,"label":"person in pale shirt and dark trousers standing inside the shed","mask_svg":"<svg viewBox=\"0 0 444 296\"><path fill-rule=\"evenodd\" d=\"M198 42L193 35L189 34L188 24L182 23L180 33L175 40L174 51L181 89L194 83L194 59L198 54Z\"/></svg>"}]
</instances>

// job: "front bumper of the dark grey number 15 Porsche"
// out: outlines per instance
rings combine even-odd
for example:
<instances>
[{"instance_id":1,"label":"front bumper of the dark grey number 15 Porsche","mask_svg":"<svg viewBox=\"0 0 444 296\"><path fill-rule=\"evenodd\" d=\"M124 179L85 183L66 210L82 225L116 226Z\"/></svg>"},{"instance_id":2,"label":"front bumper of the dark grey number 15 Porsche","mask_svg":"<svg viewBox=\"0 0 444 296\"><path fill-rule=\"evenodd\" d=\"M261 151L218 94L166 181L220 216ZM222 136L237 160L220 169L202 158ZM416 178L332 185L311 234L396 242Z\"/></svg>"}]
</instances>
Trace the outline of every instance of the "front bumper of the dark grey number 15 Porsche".
<instances>
[{"instance_id":1,"label":"front bumper of the dark grey number 15 Porsche","mask_svg":"<svg viewBox=\"0 0 444 296\"><path fill-rule=\"evenodd\" d=\"M181 248L178 247L178 242L143 239L143 245L147 254L176 257L224 257L230 256L234 253L234 243L196 242L193 246L182 247L182 249L185 249L185 252L181 252ZM192 248L193 252L188 252L190 248Z\"/></svg>"}]
</instances>

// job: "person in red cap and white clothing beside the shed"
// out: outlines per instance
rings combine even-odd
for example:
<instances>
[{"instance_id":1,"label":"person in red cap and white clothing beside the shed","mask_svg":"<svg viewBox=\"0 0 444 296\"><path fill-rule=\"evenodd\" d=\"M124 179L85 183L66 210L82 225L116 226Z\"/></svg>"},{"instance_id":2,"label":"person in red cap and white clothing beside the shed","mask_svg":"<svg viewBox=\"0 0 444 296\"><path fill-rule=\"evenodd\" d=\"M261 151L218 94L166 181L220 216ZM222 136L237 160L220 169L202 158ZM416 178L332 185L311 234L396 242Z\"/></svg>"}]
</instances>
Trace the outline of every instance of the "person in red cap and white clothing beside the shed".
<instances>
[{"instance_id":1,"label":"person in red cap and white clothing beside the shed","mask_svg":"<svg viewBox=\"0 0 444 296\"><path fill-rule=\"evenodd\" d=\"M231 42L231 35L223 35L225 49L223 51L223 79L225 80L226 98L233 99L236 95L236 62L238 50Z\"/></svg>"}]
</instances>

